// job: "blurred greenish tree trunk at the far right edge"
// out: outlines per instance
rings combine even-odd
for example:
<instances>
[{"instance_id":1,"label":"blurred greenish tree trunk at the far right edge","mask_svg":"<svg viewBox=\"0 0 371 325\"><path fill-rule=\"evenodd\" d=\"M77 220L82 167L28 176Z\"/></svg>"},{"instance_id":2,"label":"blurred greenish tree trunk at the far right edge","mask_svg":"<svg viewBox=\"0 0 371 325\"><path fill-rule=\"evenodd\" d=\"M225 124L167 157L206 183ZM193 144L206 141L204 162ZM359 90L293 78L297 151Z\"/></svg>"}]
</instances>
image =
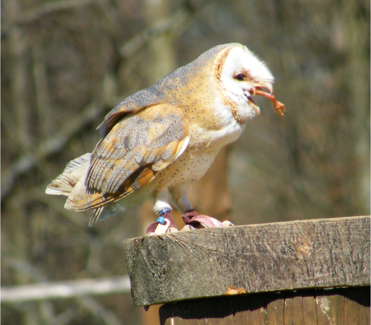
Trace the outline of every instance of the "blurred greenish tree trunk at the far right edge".
<instances>
[{"instance_id":1,"label":"blurred greenish tree trunk at the far right edge","mask_svg":"<svg viewBox=\"0 0 371 325\"><path fill-rule=\"evenodd\" d=\"M337 45L349 54L345 74L350 92L351 133L355 137L354 164L357 166L354 179L351 180L351 186L357 193L353 196L355 202L352 203L361 211L370 208L370 133L366 127L359 127L367 123L370 127L370 69L364 64L364 51L370 49L370 38L364 37L367 33L365 22L354 14L357 12L357 3L341 1L341 6L342 17L338 24L343 24L344 27Z\"/></svg>"}]
</instances>

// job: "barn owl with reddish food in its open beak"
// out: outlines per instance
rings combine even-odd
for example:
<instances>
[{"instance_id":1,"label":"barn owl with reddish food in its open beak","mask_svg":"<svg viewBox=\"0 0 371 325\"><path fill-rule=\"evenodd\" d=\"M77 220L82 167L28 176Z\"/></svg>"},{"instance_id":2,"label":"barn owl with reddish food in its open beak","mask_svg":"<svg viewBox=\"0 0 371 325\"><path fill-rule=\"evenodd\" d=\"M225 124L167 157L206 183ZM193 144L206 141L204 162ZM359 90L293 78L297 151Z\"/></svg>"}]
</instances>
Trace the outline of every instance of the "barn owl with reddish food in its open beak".
<instances>
[{"instance_id":1,"label":"barn owl with reddish food in its open beak","mask_svg":"<svg viewBox=\"0 0 371 325\"><path fill-rule=\"evenodd\" d=\"M253 95L268 97L283 115L272 83L246 46L213 47L112 109L97 128L102 137L93 152L69 162L46 193L68 196L66 209L93 209L89 226L151 198L160 218L147 232L176 231L173 208L189 227L223 227L194 212L187 188L259 114Z\"/></svg>"}]
</instances>

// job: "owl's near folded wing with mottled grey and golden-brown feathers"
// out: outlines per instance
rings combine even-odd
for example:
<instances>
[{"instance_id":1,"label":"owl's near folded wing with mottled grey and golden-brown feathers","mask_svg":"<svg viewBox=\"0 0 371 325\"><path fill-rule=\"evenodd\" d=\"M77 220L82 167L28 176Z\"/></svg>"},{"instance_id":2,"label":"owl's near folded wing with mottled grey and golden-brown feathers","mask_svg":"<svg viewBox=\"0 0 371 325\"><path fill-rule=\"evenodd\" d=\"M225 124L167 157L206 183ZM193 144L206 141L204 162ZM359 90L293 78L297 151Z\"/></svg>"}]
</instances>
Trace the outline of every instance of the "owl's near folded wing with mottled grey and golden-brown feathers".
<instances>
[{"instance_id":1,"label":"owl's near folded wing with mottled grey and golden-brown feathers","mask_svg":"<svg viewBox=\"0 0 371 325\"><path fill-rule=\"evenodd\" d=\"M168 104L122 117L93 151L85 189L65 207L97 209L151 182L188 146L187 125L183 110Z\"/></svg>"}]
</instances>

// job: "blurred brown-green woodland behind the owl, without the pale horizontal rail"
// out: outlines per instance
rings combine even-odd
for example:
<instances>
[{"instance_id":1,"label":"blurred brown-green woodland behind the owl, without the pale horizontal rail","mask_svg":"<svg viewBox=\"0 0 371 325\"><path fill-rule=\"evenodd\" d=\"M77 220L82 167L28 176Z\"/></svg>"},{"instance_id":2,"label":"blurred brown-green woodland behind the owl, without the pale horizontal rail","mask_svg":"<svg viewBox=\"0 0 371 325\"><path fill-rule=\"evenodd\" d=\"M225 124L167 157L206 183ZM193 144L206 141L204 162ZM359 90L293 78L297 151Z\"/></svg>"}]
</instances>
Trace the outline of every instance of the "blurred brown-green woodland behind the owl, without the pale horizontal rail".
<instances>
[{"instance_id":1,"label":"blurred brown-green woodland behind the owl, without the pale horizontal rail","mask_svg":"<svg viewBox=\"0 0 371 325\"><path fill-rule=\"evenodd\" d=\"M287 112L257 99L190 189L195 208L237 225L370 214L370 1L3 0L1 286L127 272L122 241L151 204L88 228L45 186L122 99L230 42L266 62ZM1 322L158 322L129 295L84 299L2 304Z\"/></svg>"}]
</instances>

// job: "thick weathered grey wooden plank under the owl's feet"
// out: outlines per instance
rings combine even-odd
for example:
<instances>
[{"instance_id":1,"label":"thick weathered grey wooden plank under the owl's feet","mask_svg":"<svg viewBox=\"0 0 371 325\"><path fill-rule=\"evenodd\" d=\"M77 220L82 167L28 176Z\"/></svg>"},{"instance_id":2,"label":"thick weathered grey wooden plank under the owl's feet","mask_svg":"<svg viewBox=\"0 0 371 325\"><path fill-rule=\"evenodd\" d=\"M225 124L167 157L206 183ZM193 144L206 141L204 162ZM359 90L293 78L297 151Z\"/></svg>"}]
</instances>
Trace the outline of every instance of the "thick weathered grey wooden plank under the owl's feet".
<instances>
[{"instance_id":1,"label":"thick weathered grey wooden plank under the owl's feet","mask_svg":"<svg viewBox=\"0 0 371 325\"><path fill-rule=\"evenodd\" d=\"M124 242L135 305L370 284L370 217L209 228Z\"/></svg>"}]
</instances>

